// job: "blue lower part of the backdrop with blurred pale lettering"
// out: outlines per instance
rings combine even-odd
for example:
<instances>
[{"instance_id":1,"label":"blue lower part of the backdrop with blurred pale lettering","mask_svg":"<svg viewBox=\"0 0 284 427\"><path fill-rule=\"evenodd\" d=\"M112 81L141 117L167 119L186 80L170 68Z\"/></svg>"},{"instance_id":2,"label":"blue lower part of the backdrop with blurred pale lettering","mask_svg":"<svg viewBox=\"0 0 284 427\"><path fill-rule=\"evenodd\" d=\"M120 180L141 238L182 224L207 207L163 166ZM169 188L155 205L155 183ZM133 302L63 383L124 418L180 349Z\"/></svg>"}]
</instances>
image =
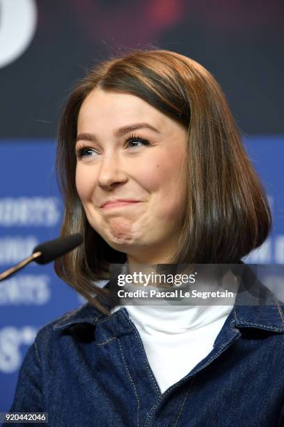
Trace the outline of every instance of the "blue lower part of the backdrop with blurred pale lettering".
<instances>
[{"instance_id":1,"label":"blue lower part of the backdrop with blurred pale lettering","mask_svg":"<svg viewBox=\"0 0 284 427\"><path fill-rule=\"evenodd\" d=\"M54 141L0 142L0 271L4 271L30 255L38 243L58 237L63 206L56 187ZM274 218L271 237L245 261L284 264L284 136L247 137L244 145L267 190ZM0 283L1 412L10 409L19 367L38 329L84 302L57 278L52 264L30 264Z\"/></svg>"}]
</instances>

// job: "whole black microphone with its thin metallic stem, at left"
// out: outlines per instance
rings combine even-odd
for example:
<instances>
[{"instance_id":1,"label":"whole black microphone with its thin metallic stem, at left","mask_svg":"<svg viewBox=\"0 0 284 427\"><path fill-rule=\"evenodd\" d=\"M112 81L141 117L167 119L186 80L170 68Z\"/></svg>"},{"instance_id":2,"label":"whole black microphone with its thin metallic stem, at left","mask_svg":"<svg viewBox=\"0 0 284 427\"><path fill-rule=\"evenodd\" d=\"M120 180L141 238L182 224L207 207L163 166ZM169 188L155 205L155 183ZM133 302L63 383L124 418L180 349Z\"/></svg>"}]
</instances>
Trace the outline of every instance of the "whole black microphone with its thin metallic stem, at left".
<instances>
[{"instance_id":1,"label":"whole black microphone with its thin metallic stem, at left","mask_svg":"<svg viewBox=\"0 0 284 427\"><path fill-rule=\"evenodd\" d=\"M0 274L0 282L21 270L29 264L31 261L36 261L38 264L47 264L48 262L56 260L58 257L62 257L65 253L70 252L77 246L83 243L83 237L81 234L70 234L65 237L58 237L58 239L45 241L36 248L33 249L33 255L30 255L19 264L15 265L3 273Z\"/></svg>"}]
</instances>

